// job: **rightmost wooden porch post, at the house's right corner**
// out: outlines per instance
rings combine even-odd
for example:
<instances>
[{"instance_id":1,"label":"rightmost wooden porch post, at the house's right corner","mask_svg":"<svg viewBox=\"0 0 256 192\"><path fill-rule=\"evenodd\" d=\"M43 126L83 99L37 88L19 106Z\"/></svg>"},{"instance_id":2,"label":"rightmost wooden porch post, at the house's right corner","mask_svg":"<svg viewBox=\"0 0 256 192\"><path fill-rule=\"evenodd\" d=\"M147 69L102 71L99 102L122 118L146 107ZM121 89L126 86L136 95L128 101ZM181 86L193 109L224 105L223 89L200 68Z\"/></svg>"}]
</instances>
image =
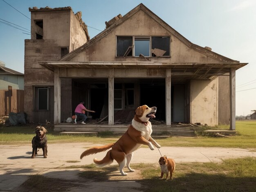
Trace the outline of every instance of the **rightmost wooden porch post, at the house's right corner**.
<instances>
[{"instance_id":1,"label":"rightmost wooden porch post, at the house's right corner","mask_svg":"<svg viewBox=\"0 0 256 192\"><path fill-rule=\"evenodd\" d=\"M236 130L236 69L235 68L230 68L230 72L229 72L229 93L230 93L229 130Z\"/></svg>"}]
</instances>

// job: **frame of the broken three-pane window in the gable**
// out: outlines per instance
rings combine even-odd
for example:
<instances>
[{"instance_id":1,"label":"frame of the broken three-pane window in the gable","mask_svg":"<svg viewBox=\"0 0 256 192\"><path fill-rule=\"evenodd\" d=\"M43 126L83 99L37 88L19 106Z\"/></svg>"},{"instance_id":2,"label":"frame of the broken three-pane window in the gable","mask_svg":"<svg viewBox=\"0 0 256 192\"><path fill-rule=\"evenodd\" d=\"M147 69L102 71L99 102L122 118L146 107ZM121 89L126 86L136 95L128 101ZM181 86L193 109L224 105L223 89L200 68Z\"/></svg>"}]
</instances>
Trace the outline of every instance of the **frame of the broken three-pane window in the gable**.
<instances>
[{"instance_id":1,"label":"frame of the broken three-pane window in the gable","mask_svg":"<svg viewBox=\"0 0 256 192\"><path fill-rule=\"evenodd\" d=\"M132 37L132 56L117 56L117 37ZM168 53L168 55L166 55L166 56L152 56L152 37L168 37L168 39L169 39L169 43L168 43L168 45L169 45L169 51L167 52ZM160 57L160 58L170 58L171 57L171 36L121 36L121 35L117 35L116 36L116 54L115 54L115 56L116 57L124 57L124 58L126 58L126 57L136 57L136 58L138 58L139 56L135 56L135 49L136 49L136 47L135 47L135 39L136 38L149 38L149 56L145 56L146 58L158 58L158 57Z\"/></svg>"}]
</instances>

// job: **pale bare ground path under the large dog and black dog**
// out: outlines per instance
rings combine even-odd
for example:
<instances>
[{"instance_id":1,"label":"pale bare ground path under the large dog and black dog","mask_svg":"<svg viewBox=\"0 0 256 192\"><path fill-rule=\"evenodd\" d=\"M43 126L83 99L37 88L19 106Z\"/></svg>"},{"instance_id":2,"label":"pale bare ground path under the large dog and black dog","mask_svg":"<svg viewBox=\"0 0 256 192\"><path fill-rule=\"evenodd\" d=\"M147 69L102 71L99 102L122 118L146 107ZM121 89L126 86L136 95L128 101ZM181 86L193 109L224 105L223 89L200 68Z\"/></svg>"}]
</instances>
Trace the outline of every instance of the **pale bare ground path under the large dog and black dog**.
<instances>
[{"instance_id":1,"label":"pale bare ground path under the large dog and black dog","mask_svg":"<svg viewBox=\"0 0 256 192\"><path fill-rule=\"evenodd\" d=\"M106 152L79 158L81 153L92 143L63 143L48 144L47 159L43 158L40 149L38 156L31 159L31 145L0 145L0 191L38 191L39 186L31 188L28 181L30 175L44 176L40 188L43 191L90 191L90 192L138 192L144 186L140 181L138 170L121 176L117 163L107 167L105 172L92 172L86 168L76 168L93 163L93 158L102 159ZM97 145L97 144L96 144ZM221 147L161 147L162 155L175 159L176 164L181 162L221 162L226 158L255 156L256 150ZM158 165L160 153L157 149L140 148L134 152L131 163L153 163ZM132 165L131 165L132 168ZM87 176L81 176L86 173ZM94 178L94 179L91 179ZM32 181L33 182L33 181ZM40 190L39 190L40 191ZM42 191L42 190L41 190Z\"/></svg>"}]
</instances>

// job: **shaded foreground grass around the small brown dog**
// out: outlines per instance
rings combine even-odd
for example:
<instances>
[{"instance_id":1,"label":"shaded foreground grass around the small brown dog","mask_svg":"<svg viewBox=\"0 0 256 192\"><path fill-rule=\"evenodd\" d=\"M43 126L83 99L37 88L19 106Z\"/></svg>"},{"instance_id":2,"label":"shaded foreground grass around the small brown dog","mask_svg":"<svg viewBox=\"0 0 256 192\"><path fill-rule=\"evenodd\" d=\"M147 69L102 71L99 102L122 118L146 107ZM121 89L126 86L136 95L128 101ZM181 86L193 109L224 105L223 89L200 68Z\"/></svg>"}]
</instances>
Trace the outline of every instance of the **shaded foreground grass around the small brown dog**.
<instances>
[{"instance_id":1,"label":"shaded foreground grass around the small brown dog","mask_svg":"<svg viewBox=\"0 0 256 192\"><path fill-rule=\"evenodd\" d=\"M226 159L222 163L176 163L172 180L159 179L161 170L158 164L141 163L132 164L131 167L141 172L143 179L136 181L143 186L140 190L146 192L255 192L256 158L251 156ZM80 176L104 181L108 180L111 172L117 170L116 166L92 167L87 168Z\"/></svg>"}]
</instances>

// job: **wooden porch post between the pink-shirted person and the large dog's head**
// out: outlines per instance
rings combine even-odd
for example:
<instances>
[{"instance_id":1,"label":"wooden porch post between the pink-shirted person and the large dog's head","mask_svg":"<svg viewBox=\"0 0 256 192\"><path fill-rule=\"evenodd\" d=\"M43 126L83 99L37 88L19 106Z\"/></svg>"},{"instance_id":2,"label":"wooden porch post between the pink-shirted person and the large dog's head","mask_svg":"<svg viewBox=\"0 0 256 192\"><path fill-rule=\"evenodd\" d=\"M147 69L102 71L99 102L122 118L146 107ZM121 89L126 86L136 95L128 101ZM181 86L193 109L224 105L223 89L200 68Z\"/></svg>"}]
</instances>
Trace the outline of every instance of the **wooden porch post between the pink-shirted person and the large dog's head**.
<instances>
[{"instance_id":1,"label":"wooden porch post between the pink-shirted person and the large dog's head","mask_svg":"<svg viewBox=\"0 0 256 192\"><path fill-rule=\"evenodd\" d=\"M108 125L114 125L114 69L108 71Z\"/></svg>"}]
</instances>

